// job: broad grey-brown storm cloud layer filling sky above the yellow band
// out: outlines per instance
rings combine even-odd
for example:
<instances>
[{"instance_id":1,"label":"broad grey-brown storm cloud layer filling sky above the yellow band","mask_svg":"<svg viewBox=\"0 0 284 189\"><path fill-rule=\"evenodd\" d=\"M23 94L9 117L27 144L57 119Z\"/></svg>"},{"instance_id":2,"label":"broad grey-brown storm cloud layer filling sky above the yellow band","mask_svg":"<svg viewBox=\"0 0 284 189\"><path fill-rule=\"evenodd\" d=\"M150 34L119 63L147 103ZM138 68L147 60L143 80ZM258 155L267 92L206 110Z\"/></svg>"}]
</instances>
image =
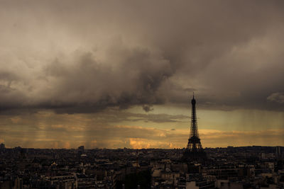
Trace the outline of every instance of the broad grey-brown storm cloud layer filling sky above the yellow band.
<instances>
[{"instance_id":1,"label":"broad grey-brown storm cloud layer filling sky above the yellow band","mask_svg":"<svg viewBox=\"0 0 284 189\"><path fill-rule=\"evenodd\" d=\"M80 7L78 9L78 7ZM1 1L0 110L283 110L282 1ZM280 99L280 100L279 100Z\"/></svg>"}]
</instances>

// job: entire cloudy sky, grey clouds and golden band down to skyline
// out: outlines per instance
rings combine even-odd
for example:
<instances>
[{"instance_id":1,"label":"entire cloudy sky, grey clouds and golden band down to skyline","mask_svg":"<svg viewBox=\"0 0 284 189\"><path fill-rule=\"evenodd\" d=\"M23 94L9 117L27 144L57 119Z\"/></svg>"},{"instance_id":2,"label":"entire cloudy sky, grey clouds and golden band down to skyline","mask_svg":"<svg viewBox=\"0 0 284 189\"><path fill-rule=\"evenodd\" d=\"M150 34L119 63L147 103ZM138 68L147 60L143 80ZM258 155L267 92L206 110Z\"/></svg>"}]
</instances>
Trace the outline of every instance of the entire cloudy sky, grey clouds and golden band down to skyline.
<instances>
[{"instance_id":1,"label":"entire cloudy sky, grey clouds and golden band down to skyline","mask_svg":"<svg viewBox=\"0 0 284 189\"><path fill-rule=\"evenodd\" d=\"M284 145L283 1L0 1L0 142Z\"/></svg>"}]
</instances>

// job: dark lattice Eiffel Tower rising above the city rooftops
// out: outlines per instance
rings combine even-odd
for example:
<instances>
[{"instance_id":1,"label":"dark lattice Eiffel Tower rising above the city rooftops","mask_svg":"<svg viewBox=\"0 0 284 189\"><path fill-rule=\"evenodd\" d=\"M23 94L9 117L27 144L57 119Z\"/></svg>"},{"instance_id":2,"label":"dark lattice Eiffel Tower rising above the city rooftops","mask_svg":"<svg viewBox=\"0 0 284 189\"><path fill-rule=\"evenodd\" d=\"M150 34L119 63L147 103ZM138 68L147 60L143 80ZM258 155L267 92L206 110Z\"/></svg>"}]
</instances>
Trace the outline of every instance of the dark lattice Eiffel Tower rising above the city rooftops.
<instances>
[{"instance_id":1,"label":"dark lattice Eiffel Tower rising above the city rooftops","mask_svg":"<svg viewBox=\"0 0 284 189\"><path fill-rule=\"evenodd\" d=\"M195 161L195 160L205 160L207 159L206 153L202 149L200 142L200 136L198 134L197 128L197 116L195 108L195 94L193 93L193 98L191 100L192 113L191 113L191 127L190 127L190 137L188 139L187 148L182 156L183 161Z\"/></svg>"}]
</instances>

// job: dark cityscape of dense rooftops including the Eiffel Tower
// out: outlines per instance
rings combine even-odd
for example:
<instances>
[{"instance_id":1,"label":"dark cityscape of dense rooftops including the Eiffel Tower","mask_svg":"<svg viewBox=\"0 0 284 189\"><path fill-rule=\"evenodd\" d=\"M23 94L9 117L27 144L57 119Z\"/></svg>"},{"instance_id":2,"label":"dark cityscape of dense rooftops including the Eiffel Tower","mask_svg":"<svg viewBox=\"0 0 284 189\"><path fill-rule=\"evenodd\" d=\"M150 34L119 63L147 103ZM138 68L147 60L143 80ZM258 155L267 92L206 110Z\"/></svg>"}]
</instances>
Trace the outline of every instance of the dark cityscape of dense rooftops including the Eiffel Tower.
<instances>
[{"instance_id":1,"label":"dark cityscape of dense rooftops including the Eiffel Tower","mask_svg":"<svg viewBox=\"0 0 284 189\"><path fill-rule=\"evenodd\" d=\"M284 147L202 148L192 97L184 149L1 150L1 188L283 188Z\"/></svg>"}]
</instances>

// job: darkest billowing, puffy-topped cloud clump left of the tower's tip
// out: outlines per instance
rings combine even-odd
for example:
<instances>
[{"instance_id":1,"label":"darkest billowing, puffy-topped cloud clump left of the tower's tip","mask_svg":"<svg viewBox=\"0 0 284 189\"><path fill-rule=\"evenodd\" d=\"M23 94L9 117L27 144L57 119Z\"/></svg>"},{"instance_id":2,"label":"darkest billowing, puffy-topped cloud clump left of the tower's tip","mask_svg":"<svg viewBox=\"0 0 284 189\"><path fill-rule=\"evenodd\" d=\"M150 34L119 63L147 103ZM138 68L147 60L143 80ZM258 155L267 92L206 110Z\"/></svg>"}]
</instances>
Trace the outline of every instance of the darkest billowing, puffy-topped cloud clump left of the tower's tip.
<instances>
[{"instance_id":1,"label":"darkest billowing, puffy-topped cloud clump left of the tower's tip","mask_svg":"<svg viewBox=\"0 0 284 189\"><path fill-rule=\"evenodd\" d=\"M58 110L74 108L79 113L109 106L125 109L130 105L164 103L157 91L173 73L168 60L147 49L129 49L122 42L116 45L107 50L107 59L114 65L96 61L92 53L80 55L71 67L58 59L48 64L46 79L56 79L58 86L50 96L55 101L48 98L45 104L53 104ZM151 110L149 105L143 107Z\"/></svg>"}]
</instances>

